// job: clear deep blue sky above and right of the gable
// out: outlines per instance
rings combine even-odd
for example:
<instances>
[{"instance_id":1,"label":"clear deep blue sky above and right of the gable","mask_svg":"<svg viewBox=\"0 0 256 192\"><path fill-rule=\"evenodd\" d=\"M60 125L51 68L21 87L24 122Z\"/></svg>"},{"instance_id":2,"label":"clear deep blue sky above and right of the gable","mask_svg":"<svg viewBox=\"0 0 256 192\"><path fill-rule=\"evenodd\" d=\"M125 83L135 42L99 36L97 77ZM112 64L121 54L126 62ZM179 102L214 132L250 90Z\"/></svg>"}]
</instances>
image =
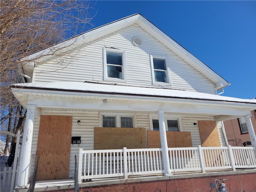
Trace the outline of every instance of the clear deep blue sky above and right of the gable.
<instances>
[{"instance_id":1,"label":"clear deep blue sky above and right of the gable","mask_svg":"<svg viewBox=\"0 0 256 192\"><path fill-rule=\"evenodd\" d=\"M136 13L230 82L222 96L256 97L256 1L100 0L91 24Z\"/></svg>"}]
</instances>

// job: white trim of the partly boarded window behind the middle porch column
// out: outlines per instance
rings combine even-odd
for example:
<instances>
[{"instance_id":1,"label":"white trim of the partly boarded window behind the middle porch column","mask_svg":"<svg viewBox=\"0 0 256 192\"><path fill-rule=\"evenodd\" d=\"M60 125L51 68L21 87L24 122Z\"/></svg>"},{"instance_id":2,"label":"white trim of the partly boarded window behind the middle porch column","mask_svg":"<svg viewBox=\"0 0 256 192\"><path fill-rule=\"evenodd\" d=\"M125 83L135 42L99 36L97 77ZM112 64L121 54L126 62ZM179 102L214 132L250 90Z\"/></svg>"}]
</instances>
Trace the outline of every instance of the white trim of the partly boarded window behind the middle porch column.
<instances>
[{"instance_id":1,"label":"white trim of the partly boarded window behind the middle porch column","mask_svg":"<svg viewBox=\"0 0 256 192\"><path fill-rule=\"evenodd\" d=\"M153 129L153 121L152 121L153 119L158 119L158 114L150 114L150 115L149 115L149 126L150 126L150 130L154 130L154 129ZM164 114L164 124L165 124L165 130L166 130L166 131L168 131L167 120L178 120L179 132L183 132L182 120L181 120L181 116L180 116L180 115L168 115L168 114Z\"/></svg>"}]
</instances>

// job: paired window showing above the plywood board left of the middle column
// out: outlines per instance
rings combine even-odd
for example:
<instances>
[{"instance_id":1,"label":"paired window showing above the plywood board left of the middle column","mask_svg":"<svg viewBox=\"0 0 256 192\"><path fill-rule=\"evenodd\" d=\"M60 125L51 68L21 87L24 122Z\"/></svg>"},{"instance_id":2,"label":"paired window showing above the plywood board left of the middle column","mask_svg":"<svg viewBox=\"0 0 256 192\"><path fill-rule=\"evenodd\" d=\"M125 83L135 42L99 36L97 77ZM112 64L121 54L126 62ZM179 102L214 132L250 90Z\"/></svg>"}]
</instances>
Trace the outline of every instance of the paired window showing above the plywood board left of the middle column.
<instances>
[{"instance_id":1,"label":"paired window showing above the plywood board left of the middle column","mask_svg":"<svg viewBox=\"0 0 256 192\"><path fill-rule=\"evenodd\" d=\"M102 115L102 127L125 127L132 128L134 127L134 118L133 116L128 115L112 115L106 114Z\"/></svg>"}]
</instances>

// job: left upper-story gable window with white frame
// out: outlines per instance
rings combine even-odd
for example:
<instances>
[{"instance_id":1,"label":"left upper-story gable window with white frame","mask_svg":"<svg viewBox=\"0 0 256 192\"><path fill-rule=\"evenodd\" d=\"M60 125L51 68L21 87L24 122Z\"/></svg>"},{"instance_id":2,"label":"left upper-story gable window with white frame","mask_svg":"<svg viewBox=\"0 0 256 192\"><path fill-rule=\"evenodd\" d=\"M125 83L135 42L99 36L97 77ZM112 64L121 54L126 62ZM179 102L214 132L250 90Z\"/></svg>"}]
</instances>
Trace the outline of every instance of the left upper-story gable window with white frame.
<instances>
[{"instance_id":1,"label":"left upper-story gable window with white frame","mask_svg":"<svg viewBox=\"0 0 256 192\"><path fill-rule=\"evenodd\" d=\"M104 80L126 82L124 50L104 48Z\"/></svg>"}]
</instances>

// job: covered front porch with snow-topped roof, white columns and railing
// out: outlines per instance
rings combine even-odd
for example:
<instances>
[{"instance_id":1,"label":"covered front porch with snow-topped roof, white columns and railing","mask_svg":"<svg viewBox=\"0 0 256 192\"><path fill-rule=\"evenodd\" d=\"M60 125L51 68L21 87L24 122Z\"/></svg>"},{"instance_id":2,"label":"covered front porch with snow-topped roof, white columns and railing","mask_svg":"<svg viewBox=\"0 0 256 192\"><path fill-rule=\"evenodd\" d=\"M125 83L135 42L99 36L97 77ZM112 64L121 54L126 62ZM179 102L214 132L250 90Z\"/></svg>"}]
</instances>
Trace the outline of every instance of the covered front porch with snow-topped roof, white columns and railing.
<instances>
[{"instance_id":1,"label":"covered front porch with snow-topped roof, white columns and railing","mask_svg":"<svg viewBox=\"0 0 256 192\"><path fill-rule=\"evenodd\" d=\"M65 82L40 86L31 84L22 89L18 86L12 87L16 97L27 108L17 188L27 188L34 170L39 131L44 130L41 120L46 115L70 117L70 140L67 142L70 159L64 167L67 169L67 178L74 178L74 155L79 156L79 182L110 178L127 180L131 177L153 175L168 178L184 172L205 174L256 168L256 137L250 121L250 110L256 108L255 100L159 88L119 86L120 89L117 90L114 85L95 86L88 83L77 83L81 87L77 89L78 86L72 86L73 84L76 85L74 82L70 85ZM66 87L76 89L70 90ZM95 129L102 127L102 116L110 113L132 116L134 126L127 129L144 128L146 145L118 149L95 148ZM221 121L240 116L246 118L252 147L232 147L226 141ZM154 119L158 120L159 131L152 128ZM171 132L167 128L168 119L175 119L179 123L179 132L190 132L190 145L170 147L173 142L172 137L168 138ZM212 132L205 136L200 133L207 130L206 126L199 127L202 125L200 121L215 123L213 132L214 138L218 139L218 145L211 143L215 139L208 140ZM58 122L54 124L57 125ZM150 142L158 142L152 142L156 134L149 137L150 131L158 132L158 147L148 146ZM71 143L70 146L71 136L81 136L81 143Z\"/></svg>"}]
</instances>

